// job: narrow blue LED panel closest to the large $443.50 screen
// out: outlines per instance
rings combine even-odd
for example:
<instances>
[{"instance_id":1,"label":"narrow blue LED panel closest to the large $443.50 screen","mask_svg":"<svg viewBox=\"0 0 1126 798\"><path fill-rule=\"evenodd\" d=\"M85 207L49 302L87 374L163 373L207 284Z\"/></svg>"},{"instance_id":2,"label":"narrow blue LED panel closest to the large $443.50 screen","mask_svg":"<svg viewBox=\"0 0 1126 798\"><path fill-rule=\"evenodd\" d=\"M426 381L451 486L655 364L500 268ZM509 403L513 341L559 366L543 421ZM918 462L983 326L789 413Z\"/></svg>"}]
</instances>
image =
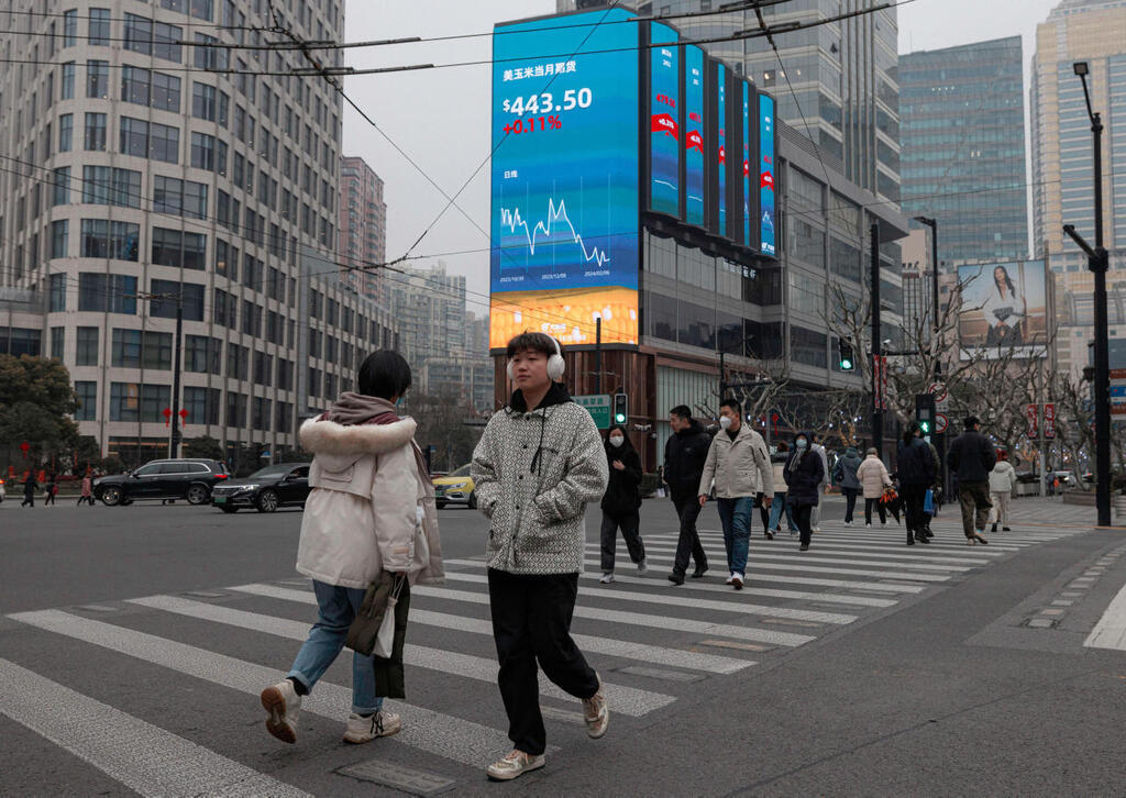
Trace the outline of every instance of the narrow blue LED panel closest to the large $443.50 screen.
<instances>
[{"instance_id":1,"label":"narrow blue LED panel closest to the large $443.50 screen","mask_svg":"<svg viewBox=\"0 0 1126 798\"><path fill-rule=\"evenodd\" d=\"M649 207L680 215L680 51L679 34L668 25L650 25ZM669 45L669 46L661 46Z\"/></svg>"}]
</instances>

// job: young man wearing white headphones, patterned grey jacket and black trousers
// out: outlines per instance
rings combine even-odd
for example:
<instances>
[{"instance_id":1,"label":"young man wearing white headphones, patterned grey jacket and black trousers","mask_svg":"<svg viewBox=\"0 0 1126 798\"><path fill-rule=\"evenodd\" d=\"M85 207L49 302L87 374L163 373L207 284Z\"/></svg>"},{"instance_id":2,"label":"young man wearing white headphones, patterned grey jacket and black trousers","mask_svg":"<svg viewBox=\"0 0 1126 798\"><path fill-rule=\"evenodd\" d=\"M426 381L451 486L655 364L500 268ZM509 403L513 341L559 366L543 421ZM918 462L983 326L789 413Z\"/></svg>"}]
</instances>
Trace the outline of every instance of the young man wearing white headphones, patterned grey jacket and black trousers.
<instances>
[{"instance_id":1,"label":"young man wearing white headphones, patterned grey jacket and black trousers","mask_svg":"<svg viewBox=\"0 0 1126 798\"><path fill-rule=\"evenodd\" d=\"M525 332L509 341L512 396L473 452L477 506L490 521L489 607L513 744L489 766L498 781L545 764L537 663L582 700L588 735L601 737L609 720L601 680L571 639L587 504L606 493L609 466L593 419L558 382L564 369L554 338Z\"/></svg>"}]
</instances>

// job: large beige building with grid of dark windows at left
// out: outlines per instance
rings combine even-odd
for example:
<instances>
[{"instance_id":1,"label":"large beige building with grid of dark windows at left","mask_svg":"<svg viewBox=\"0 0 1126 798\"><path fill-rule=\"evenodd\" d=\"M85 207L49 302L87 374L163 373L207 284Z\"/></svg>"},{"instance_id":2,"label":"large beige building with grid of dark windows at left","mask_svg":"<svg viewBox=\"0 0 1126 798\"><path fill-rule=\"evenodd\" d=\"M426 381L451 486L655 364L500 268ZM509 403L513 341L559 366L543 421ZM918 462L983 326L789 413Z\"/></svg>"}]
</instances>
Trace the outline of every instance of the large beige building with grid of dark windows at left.
<instances>
[{"instance_id":1,"label":"large beige building with grid of dark windows at left","mask_svg":"<svg viewBox=\"0 0 1126 798\"><path fill-rule=\"evenodd\" d=\"M129 464L168 454L176 406L185 438L229 452L295 446L394 338L337 279L339 95L286 74L304 64L283 51L223 46L270 38L261 2L6 6L0 285L24 310L0 350L62 360L80 431ZM340 2L275 10L303 38L342 36Z\"/></svg>"}]
</instances>

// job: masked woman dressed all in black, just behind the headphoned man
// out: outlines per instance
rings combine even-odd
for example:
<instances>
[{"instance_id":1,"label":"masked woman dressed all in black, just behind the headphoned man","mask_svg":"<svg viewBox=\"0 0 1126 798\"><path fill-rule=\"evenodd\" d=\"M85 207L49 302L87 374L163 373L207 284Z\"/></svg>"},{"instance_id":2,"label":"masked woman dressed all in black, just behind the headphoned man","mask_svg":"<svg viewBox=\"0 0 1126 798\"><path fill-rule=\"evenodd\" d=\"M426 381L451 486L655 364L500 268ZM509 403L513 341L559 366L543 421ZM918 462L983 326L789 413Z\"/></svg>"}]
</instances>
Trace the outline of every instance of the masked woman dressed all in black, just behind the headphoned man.
<instances>
[{"instance_id":1,"label":"masked woman dressed all in black, just behind the headphoned man","mask_svg":"<svg viewBox=\"0 0 1126 798\"><path fill-rule=\"evenodd\" d=\"M614 424L606 436L606 460L610 467L610 483L602 496L602 584L614 581L614 557L617 553L618 528L626 539L629 559L644 575L645 544L641 539L641 457L626 429Z\"/></svg>"}]
</instances>

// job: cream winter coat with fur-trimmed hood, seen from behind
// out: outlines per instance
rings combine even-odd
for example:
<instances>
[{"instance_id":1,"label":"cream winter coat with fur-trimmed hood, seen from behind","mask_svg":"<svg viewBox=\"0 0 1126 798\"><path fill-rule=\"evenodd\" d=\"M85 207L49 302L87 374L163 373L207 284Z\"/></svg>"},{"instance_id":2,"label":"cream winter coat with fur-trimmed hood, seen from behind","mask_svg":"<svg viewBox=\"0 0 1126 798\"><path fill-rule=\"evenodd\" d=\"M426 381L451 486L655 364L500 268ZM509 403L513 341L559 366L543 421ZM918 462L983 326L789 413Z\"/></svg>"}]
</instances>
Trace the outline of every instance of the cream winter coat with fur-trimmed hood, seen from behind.
<instances>
[{"instance_id":1,"label":"cream winter coat with fur-trimmed hood, seen from behind","mask_svg":"<svg viewBox=\"0 0 1126 798\"><path fill-rule=\"evenodd\" d=\"M367 588L382 571L439 582L441 543L434 487L414 443L413 419L386 400L346 393L301 425L313 452L297 571L319 582Z\"/></svg>"}]
</instances>

